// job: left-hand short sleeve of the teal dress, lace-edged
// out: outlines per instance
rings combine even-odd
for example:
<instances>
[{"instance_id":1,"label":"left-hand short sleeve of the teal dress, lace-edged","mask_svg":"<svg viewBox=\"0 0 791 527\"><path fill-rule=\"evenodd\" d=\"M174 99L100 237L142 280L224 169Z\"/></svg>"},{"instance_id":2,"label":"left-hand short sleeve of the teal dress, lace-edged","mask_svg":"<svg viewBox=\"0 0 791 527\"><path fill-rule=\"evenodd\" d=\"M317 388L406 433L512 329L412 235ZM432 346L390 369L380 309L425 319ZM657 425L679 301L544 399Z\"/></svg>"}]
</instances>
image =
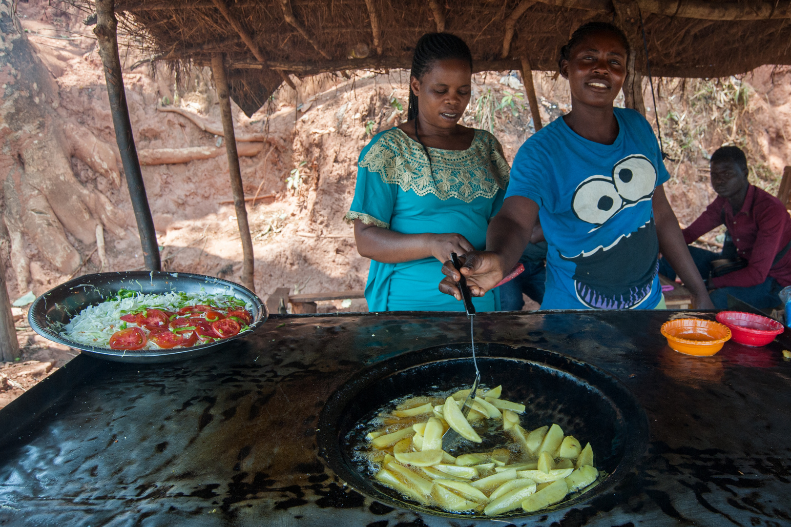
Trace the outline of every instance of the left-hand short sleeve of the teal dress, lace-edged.
<instances>
[{"instance_id":1,"label":"left-hand short sleeve of the teal dress, lace-edged","mask_svg":"<svg viewBox=\"0 0 791 527\"><path fill-rule=\"evenodd\" d=\"M395 196L398 185L384 183L378 172L362 167L361 161L369 152L371 146L378 141L374 137L362 152L358 160L357 183L354 186L354 199L351 201L350 210L343 216L346 223L361 220L366 225L376 225L381 228L390 228L390 218L395 206Z\"/></svg>"}]
</instances>

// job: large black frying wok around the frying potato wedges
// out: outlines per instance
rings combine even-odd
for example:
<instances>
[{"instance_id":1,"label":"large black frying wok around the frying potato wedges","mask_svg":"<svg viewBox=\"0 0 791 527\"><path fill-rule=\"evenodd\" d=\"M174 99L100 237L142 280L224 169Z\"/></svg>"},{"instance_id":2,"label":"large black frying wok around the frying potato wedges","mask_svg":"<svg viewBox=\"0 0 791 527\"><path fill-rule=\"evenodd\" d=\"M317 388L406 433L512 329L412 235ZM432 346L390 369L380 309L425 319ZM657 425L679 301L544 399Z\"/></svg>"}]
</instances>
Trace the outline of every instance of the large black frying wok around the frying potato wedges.
<instances>
[{"instance_id":1,"label":"large black frying wok around the frying potato wedges","mask_svg":"<svg viewBox=\"0 0 791 527\"><path fill-rule=\"evenodd\" d=\"M505 344L475 346L481 382L503 387L503 397L524 402L521 416L528 430L558 423L566 435L590 442L596 466L607 476L584 494L554 508L580 503L610 491L642 457L648 445L648 421L632 393L617 378L591 364L560 353ZM346 483L382 503L438 516L490 518L483 514L449 514L418 505L371 479L363 461L355 461L354 444L383 405L408 394L425 395L466 386L475 368L469 344L437 346L405 353L374 364L350 378L324 406L317 439L320 454ZM546 514L541 510L533 514ZM514 510L492 518L524 518Z\"/></svg>"}]
</instances>

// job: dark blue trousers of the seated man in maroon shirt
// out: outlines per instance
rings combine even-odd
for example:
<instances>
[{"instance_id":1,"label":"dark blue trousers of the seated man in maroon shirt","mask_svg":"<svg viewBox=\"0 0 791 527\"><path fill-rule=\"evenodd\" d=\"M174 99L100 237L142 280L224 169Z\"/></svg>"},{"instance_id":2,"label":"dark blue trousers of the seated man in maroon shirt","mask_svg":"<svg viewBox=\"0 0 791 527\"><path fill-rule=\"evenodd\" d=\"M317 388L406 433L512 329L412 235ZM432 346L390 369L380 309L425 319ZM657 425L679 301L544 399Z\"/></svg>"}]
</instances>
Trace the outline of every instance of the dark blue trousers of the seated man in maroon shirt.
<instances>
[{"instance_id":1,"label":"dark blue trousers of the seated man in maroon shirt","mask_svg":"<svg viewBox=\"0 0 791 527\"><path fill-rule=\"evenodd\" d=\"M700 247L689 247L690 254L694 265L698 268L698 272L703 280L708 280L711 273L711 262L722 258L721 253L714 253L710 250L701 249ZM660 258L659 260L659 273L671 280L676 280L676 271L670 266L667 260ZM763 284L753 285L749 288L740 288L730 286L727 288L714 289L709 293L714 307L717 309L728 309L728 295L732 295L742 302L750 304L752 307L759 309L766 309L778 307L782 304L780 300L780 290L782 286L778 284L778 280L772 277L766 277Z\"/></svg>"}]
</instances>

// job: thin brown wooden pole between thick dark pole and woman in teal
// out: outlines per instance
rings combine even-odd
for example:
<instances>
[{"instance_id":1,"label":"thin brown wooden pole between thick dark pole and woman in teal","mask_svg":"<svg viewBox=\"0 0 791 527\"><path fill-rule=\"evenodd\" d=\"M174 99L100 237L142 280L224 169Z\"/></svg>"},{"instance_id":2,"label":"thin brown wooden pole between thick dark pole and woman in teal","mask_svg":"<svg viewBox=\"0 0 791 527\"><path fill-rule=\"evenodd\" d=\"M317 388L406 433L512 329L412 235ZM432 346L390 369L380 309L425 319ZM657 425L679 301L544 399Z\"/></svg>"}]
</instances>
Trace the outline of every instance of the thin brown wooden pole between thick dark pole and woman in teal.
<instances>
[{"instance_id":1,"label":"thin brown wooden pole between thick dark pole and woman in teal","mask_svg":"<svg viewBox=\"0 0 791 527\"><path fill-rule=\"evenodd\" d=\"M233 206L237 211L237 224L239 225L239 236L242 241L242 285L255 292L252 238L250 237L250 225L247 220L247 209L244 207L244 186L242 186L242 174L239 168L237 139L233 132L231 99L228 90L228 78L225 76L225 57L218 51L211 54L211 71L214 73L214 85L217 86L222 130L225 133L225 152L228 153L228 171L231 177Z\"/></svg>"}]
</instances>

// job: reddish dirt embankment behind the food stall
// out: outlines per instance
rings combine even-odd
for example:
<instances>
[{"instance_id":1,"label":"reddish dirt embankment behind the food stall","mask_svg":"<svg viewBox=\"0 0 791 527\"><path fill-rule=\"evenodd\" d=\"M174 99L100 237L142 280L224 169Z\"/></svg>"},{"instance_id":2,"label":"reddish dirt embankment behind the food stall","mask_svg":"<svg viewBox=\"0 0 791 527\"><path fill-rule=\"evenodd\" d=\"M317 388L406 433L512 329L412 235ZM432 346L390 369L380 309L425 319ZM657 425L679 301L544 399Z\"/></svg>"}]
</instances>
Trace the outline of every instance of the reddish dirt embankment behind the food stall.
<instances>
[{"instance_id":1,"label":"reddish dirt embankment behind the food stall","mask_svg":"<svg viewBox=\"0 0 791 527\"><path fill-rule=\"evenodd\" d=\"M19 3L18 9L28 40L55 81L61 118L74 122L78 130L88 130L97 145L114 151L104 74L92 28L82 23L85 13L56 9L46 0ZM184 149L209 152L206 159L142 168L164 269L238 280L241 247L229 202L227 161L224 154L211 153L221 149L223 138L211 131L221 130L221 126L210 72L184 72L177 82L165 66L143 65L131 70L141 58L134 49L122 47L121 57L138 149L177 149L177 155L187 155ZM350 79L322 75L298 82L297 92L282 88L270 107L251 118L233 105L237 135L264 138L263 145L257 142L258 146L250 147L251 155L240 160L245 193L259 195L255 204L248 202L248 214L255 251L255 288L263 299L279 287L288 287L292 293L364 287L368 260L357 253L343 214L354 194L358 153L373 134L405 119L407 78L403 70L387 75L357 72ZM742 79L657 80L660 127L672 175L668 198L682 224L691 223L713 199L707 156L720 145L742 146L754 169L754 183L777 190L782 168L791 160L786 140L791 134L789 81L787 71L769 66ZM536 73L536 90L544 123L570 109L562 77ZM645 100L651 100L647 84ZM473 100L463 122L492 130L512 160L533 132L525 104L517 73L475 75ZM174 109L180 113L168 111ZM654 124L651 107L648 118ZM41 294L72 275L142 269L137 228L123 179L118 184L112 170L101 170L96 164L92 168L82 158L89 159L76 153L71 157L74 175L89 193L108 200L121 232L104 232L101 254L97 243L86 242L66 228L66 238L81 258L79 268L67 274L51 264L46 247L33 239L23 240L29 264L20 268L19 260L10 258L3 239L0 256L12 298L28 289ZM713 242L716 234L706 239ZM29 284L24 288L19 280L22 275ZM320 311L365 309L362 299L319 306ZM37 359L59 367L74 355L32 333L24 310L17 311L16 318L23 361ZM45 373L49 371L45 368ZM14 375L36 378L21 372ZM3 390L21 393L7 380L0 382L0 393Z\"/></svg>"}]
</instances>

